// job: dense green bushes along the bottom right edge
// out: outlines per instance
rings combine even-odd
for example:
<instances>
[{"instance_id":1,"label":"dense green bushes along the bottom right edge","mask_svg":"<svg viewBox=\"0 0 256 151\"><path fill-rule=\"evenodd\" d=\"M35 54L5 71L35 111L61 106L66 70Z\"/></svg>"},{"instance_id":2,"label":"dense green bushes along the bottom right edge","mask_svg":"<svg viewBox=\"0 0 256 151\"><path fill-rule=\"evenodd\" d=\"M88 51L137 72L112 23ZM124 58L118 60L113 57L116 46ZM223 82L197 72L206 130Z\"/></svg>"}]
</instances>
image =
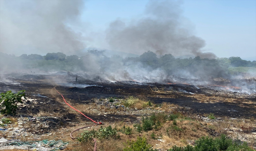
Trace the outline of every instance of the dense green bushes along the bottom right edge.
<instances>
[{"instance_id":1,"label":"dense green bushes along the bottom right edge","mask_svg":"<svg viewBox=\"0 0 256 151\"><path fill-rule=\"evenodd\" d=\"M221 135L220 138L201 137L195 142L195 147L187 145L185 147L172 146L167 151L255 151L246 142L237 143Z\"/></svg>"}]
</instances>

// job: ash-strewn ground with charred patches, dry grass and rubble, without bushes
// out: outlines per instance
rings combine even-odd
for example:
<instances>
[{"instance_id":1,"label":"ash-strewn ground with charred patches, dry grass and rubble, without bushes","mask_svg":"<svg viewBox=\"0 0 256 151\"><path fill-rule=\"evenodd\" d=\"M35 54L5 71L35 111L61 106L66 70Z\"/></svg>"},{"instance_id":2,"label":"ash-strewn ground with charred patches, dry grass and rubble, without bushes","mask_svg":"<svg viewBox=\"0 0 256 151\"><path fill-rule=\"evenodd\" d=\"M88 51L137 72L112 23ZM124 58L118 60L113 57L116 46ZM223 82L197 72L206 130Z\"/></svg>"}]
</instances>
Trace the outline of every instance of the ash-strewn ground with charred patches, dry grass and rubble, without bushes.
<instances>
[{"instance_id":1,"label":"ash-strewn ground with charred patches, dry grass and rubble, without bushes","mask_svg":"<svg viewBox=\"0 0 256 151\"><path fill-rule=\"evenodd\" d=\"M141 121L142 116L161 112L179 112L197 121L194 124L200 125L198 131L188 127L176 143L174 141L166 144L166 142L149 139L154 148L159 150L179 144L179 139L185 139L191 144L193 140L201 136L217 137L221 133L233 139L249 142L252 147L255 147L254 80L235 79L232 81L216 78L206 83L200 79L191 80L173 76L161 82L156 82L154 79L145 80L148 82L113 82L91 81L68 72L44 75L8 74L5 77L8 77L4 79L5 82L0 83L1 92L26 90L27 98L29 98L23 100L24 103L18 104L18 114L14 116L17 122L2 128L6 129L1 132L2 137L5 138L42 140L57 137L64 141L72 141L69 138L70 130L91 123L90 120L69 108L55 91L55 87L70 105L95 121L103 122L103 126L126 124L132 127L134 123ZM189 83L194 83L194 85ZM195 85L196 83L198 85ZM237 83L240 83L240 87L237 87ZM151 101L154 106L142 108L123 106L120 102L130 96ZM110 101L110 98L114 99ZM210 114L214 114L215 119L210 119ZM185 123L191 124L188 121ZM163 124L161 130L154 133L159 133L160 136L160 133L166 133L164 129ZM124 135L122 139L132 139L136 136L134 132L131 136ZM66 149L72 150L69 147Z\"/></svg>"}]
</instances>

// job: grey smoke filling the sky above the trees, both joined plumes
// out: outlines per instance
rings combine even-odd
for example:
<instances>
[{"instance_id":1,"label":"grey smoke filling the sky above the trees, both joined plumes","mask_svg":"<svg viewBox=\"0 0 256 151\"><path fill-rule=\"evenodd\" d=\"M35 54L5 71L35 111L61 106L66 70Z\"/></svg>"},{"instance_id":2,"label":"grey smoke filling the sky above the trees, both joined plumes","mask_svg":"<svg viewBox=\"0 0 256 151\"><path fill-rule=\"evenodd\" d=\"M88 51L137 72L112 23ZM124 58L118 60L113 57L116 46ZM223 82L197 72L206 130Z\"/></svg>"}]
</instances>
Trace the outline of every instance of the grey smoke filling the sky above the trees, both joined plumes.
<instances>
[{"instance_id":1,"label":"grey smoke filling the sky above the trees, both joined plumes","mask_svg":"<svg viewBox=\"0 0 256 151\"><path fill-rule=\"evenodd\" d=\"M63 52L82 54L86 44L141 55L152 51L158 55L173 54L215 58L203 53L205 41L192 34L191 25L184 23L180 1L150 1L145 16L125 23L115 20L106 33L79 33L71 27L81 25L82 0L1 1L0 50L8 54ZM83 29L86 25L83 24ZM90 32L89 32L90 33ZM93 31L91 31L93 33ZM95 32L94 32L95 33ZM97 42L97 35L105 42ZM90 38L88 38L90 37ZM21 53L22 52L22 53Z\"/></svg>"}]
</instances>

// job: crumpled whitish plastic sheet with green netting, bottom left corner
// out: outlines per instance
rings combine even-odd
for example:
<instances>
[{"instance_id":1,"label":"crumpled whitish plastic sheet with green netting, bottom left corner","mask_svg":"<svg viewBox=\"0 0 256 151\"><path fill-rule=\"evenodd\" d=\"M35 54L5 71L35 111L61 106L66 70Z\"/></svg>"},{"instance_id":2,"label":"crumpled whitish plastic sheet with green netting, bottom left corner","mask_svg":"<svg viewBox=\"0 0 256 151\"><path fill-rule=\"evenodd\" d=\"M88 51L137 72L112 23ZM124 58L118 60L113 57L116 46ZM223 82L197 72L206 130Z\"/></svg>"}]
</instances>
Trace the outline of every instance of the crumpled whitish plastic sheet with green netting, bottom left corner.
<instances>
[{"instance_id":1,"label":"crumpled whitish plastic sheet with green netting, bottom left corner","mask_svg":"<svg viewBox=\"0 0 256 151\"><path fill-rule=\"evenodd\" d=\"M61 140L59 141L8 141L4 138L0 139L0 150L7 149L23 149L31 151L56 151L65 149L68 143L64 143Z\"/></svg>"}]
</instances>

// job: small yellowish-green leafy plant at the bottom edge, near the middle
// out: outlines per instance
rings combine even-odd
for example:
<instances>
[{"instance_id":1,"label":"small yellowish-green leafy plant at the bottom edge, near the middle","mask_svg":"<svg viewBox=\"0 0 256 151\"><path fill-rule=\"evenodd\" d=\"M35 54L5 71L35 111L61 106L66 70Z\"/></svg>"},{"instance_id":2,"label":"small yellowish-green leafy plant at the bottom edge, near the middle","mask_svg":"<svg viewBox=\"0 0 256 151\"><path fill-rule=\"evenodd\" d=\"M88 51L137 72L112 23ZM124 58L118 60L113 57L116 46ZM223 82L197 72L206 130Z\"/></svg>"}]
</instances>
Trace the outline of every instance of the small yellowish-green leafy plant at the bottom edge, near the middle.
<instances>
[{"instance_id":1,"label":"small yellowish-green leafy plant at the bottom edge, near the middle","mask_svg":"<svg viewBox=\"0 0 256 151\"><path fill-rule=\"evenodd\" d=\"M125 146L123 151L157 151L157 149L152 149L145 137L138 137L136 141L127 141Z\"/></svg>"}]
</instances>

